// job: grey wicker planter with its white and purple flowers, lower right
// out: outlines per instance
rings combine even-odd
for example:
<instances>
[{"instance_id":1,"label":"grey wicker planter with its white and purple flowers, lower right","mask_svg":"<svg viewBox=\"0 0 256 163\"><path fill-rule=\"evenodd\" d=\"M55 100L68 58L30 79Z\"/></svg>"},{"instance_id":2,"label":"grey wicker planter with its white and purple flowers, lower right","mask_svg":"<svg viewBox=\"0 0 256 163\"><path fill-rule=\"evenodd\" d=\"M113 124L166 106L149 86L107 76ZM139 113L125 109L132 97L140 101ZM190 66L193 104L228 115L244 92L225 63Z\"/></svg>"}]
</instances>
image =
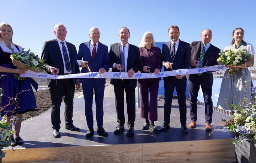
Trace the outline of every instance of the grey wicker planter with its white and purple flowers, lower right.
<instances>
[{"instance_id":1,"label":"grey wicker planter with its white and purple flowers, lower right","mask_svg":"<svg viewBox=\"0 0 256 163\"><path fill-rule=\"evenodd\" d=\"M252 87L250 99L233 105L233 114L222 119L223 128L235 135L236 162L256 162L256 87Z\"/></svg>"}]
</instances>

